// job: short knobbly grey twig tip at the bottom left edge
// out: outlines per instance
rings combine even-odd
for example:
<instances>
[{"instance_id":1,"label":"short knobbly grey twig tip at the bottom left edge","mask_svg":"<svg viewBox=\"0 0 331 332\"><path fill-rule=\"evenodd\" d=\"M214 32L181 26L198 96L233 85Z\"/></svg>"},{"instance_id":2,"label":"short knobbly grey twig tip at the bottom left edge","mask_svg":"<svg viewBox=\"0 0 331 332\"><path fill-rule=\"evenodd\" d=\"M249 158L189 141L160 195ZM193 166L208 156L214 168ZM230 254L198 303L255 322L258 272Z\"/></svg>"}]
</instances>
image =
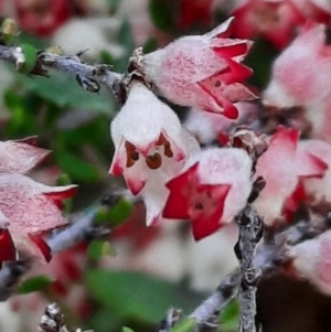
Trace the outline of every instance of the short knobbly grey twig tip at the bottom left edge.
<instances>
[{"instance_id":1,"label":"short knobbly grey twig tip at the bottom left edge","mask_svg":"<svg viewBox=\"0 0 331 332\"><path fill-rule=\"evenodd\" d=\"M68 332L65 325L64 314L56 303L49 304L39 324L40 332ZM75 329L73 332L82 332L82 329ZM93 332L92 330L85 332Z\"/></svg>"}]
</instances>

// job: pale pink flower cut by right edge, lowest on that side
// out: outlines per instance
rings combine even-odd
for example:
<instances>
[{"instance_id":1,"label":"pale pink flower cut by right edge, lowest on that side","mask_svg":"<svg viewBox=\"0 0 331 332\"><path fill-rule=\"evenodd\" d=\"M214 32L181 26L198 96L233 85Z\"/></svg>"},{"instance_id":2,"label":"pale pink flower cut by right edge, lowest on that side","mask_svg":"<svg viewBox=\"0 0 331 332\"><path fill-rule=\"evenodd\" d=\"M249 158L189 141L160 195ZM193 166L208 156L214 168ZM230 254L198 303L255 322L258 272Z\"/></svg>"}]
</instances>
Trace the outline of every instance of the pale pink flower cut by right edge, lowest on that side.
<instances>
[{"instance_id":1,"label":"pale pink flower cut by right edge, lowest on that side","mask_svg":"<svg viewBox=\"0 0 331 332\"><path fill-rule=\"evenodd\" d=\"M291 275L310 281L319 291L331 294L331 231L289 248Z\"/></svg>"}]
</instances>

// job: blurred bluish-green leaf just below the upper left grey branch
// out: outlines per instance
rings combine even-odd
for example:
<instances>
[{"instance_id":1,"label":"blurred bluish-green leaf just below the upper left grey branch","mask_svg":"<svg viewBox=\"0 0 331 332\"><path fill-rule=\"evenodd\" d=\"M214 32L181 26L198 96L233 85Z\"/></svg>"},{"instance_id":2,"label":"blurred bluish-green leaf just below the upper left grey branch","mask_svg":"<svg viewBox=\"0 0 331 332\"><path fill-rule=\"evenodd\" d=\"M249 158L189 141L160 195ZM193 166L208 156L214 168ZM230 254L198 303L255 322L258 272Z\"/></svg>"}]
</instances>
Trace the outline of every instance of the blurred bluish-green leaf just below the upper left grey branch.
<instances>
[{"instance_id":1,"label":"blurred bluish-green leaf just below the upper left grey branch","mask_svg":"<svg viewBox=\"0 0 331 332\"><path fill-rule=\"evenodd\" d=\"M106 114L113 114L114 111L111 98L104 89L100 94L88 93L66 73L52 72L50 78L31 78L19 75L19 82L28 90L60 107L75 107Z\"/></svg>"}]
</instances>

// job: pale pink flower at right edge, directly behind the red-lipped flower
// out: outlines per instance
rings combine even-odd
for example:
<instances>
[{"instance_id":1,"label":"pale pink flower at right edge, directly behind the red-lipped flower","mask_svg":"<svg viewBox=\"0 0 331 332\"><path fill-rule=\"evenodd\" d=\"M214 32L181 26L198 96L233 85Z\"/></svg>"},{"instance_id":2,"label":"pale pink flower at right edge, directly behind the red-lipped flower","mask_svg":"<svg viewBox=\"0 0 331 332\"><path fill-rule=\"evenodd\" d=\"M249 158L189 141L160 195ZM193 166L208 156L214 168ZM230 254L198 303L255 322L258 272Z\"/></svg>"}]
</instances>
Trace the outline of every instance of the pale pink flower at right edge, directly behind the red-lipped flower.
<instances>
[{"instance_id":1,"label":"pale pink flower at right edge, directly behind the red-lipped flower","mask_svg":"<svg viewBox=\"0 0 331 332\"><path fill-rule=\"evenodd\" d=\"M306 140L300 141L299 149L314 156L325 167L325 173L322 176L303 180L303 186L310 203L331 203L331 146L320 140Z\"/></svg>"}]
</instances>

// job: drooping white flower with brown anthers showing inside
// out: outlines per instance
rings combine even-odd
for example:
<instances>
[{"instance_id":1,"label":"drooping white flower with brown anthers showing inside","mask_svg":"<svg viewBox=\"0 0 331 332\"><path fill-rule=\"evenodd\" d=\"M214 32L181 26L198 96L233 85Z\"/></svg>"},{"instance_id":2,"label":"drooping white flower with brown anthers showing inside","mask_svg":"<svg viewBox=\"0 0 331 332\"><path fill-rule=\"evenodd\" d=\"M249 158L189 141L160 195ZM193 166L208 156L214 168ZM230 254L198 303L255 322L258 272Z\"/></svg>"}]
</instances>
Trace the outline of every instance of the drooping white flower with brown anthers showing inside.
<instances>
[{"instance_id":1,"label":"drooping white flower with brown anthers showing inside","mask_svg":"<svg viewBox=\"0 0 331 332\"><path fill-rule=\"evenodd\" d=\"M199 143L172 109L139 82L132 83L110 130L116 151L109 172L124 175L132 194L143 197L151 225L161 216L168 195L164 183L199 151Z\"/></svg>"}]
</instances>

